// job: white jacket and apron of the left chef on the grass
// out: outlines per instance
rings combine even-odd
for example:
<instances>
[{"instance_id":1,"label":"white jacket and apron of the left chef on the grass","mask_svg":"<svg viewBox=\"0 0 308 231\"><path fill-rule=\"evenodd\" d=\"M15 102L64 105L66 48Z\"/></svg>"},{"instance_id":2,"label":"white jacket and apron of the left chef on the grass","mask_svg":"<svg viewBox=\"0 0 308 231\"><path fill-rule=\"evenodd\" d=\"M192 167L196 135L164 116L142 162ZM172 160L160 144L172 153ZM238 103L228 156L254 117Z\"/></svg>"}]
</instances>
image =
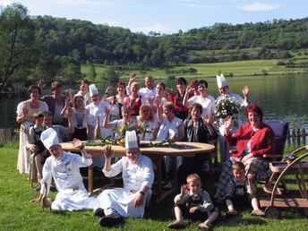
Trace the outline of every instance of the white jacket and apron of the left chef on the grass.
<instances>
[{"instance_id":1,"label":"white jacket and apron of the left chef on the grass","mask_svg":"<svg viewBox=\"0 0 308 231\"><path fill-rule=\"evenodd\" d=\"M81 156L64 151L63 157L57 160L53 156L47 158L43 167L43 179L41 181L40 193L45 191L47 183L47 193L54 177L56 190L56 200L53 201L53 210L92 210L95 201L94 197L89 197L88 192L82 183L80 167L89 167L92 158L82 158Z\"/></svg>"}]
</instances>

